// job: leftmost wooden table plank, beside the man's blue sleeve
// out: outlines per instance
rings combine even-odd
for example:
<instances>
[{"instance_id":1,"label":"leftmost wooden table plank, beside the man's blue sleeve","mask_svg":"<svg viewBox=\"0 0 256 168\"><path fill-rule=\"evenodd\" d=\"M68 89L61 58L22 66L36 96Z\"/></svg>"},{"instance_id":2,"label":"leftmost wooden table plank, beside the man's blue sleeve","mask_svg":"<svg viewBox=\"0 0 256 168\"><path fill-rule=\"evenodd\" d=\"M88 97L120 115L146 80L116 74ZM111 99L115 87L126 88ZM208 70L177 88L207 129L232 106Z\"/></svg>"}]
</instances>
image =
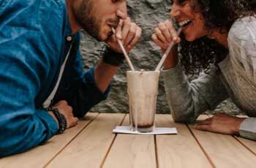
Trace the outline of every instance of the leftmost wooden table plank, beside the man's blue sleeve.
<instances>
[{"instance_id":1,"label":"leftmost wooden table plank, beside the man's blue sleeve","mask_svg":"<svg viewBox=\"0 0 256 168\"><path fill-rule=\"evenodd\" d=\"M88 113L86 118L78 122L77 126L53 137L45 145L39 145L37 148L33 148L26 153L0 159L0 167L44 167L50 159L53 159L97 115L98 113Z\"/></svg>"}]
</instances>

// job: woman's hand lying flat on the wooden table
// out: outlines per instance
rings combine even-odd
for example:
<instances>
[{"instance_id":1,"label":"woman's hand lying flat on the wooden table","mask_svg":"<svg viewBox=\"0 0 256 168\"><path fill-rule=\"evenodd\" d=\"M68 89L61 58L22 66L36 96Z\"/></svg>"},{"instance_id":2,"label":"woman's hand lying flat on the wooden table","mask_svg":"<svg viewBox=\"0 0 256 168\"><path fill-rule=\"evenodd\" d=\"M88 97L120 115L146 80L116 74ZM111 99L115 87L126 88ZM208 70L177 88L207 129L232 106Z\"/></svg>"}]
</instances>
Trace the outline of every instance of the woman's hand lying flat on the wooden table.
<instances>
[{"instance_id":1,"label":"woman's hand lying flat on the wooden table","mask_svg":"<svg viewBox=\"0 0 256 168\"><path fill-rule=\"evenodd\" d=\"M220 134L238 135L241 123L245 118L238 118L224 113L217 113L212 118L207 118L195 125L195 129L212 131Z\"/></svg>"}]
</instances>

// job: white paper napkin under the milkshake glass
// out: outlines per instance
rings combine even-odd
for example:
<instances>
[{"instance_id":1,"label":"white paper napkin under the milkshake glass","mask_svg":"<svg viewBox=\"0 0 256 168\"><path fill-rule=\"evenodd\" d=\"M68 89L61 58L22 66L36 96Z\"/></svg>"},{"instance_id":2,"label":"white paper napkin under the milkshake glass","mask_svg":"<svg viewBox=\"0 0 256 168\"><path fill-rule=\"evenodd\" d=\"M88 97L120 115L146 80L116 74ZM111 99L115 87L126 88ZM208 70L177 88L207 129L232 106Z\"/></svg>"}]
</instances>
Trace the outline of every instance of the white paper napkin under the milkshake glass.
<instances>
[{"instance_id":1,"label":"white paper napkin under the milkshake glass","mask_svg":"<svg viewBox=\"0 0 256 168\"><path fill-rule=\"evenodd\" d=\"M178 134L176 128L154 128L154 131L147 133L140 133L138 131L130 130L129 126L116 126L116 129L113 129L113 133L121 134Z\"/></svg>"}]
</instances>

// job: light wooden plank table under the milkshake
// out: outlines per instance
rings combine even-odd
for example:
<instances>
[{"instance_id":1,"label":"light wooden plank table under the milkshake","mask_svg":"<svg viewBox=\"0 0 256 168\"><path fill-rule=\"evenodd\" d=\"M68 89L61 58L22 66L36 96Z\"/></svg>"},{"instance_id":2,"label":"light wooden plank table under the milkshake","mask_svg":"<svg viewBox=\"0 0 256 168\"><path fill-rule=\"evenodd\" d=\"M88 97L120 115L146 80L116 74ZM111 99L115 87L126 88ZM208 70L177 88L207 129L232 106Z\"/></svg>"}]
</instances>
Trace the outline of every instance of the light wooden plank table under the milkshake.
<instances>
[{"instance_id":1,"label":"light wooden plank table under the milkshake","mask_svg":"<svg viewBox=\"0 0 256 168\"><path fill-rule=\"evenodd\" d=\"M156 126L178 134L112 134L128 123L125 114L89 113L45 145L0 159L0 167L256 167L255 141L198 131L171 115L157 115Z\"/></svg>"}]
</instances>

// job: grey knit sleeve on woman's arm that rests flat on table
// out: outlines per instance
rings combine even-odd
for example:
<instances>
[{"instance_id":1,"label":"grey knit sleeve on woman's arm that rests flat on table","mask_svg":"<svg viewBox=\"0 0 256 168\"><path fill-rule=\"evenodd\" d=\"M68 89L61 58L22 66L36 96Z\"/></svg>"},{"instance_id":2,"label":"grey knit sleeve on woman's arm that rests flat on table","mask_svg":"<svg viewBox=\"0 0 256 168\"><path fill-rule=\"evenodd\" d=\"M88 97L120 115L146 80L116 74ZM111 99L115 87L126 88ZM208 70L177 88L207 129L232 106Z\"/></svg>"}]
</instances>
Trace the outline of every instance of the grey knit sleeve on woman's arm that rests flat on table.
<instances>
[{"instance_id":1,"label":"grey knit sleeve on woman's arm that rests flat on table","mask_svg":"<svg viewBox=\"0 0 256 168\"><path fill-rule=\"evenodd\" d=\"M229 33L230 52L239 56L248 79L256 87L256 18L238 20ZM256 109L255 109L256 110ZM256 118L246 118L240 126L241 137L256 140Z\"/></svg>"}]
</instances>

